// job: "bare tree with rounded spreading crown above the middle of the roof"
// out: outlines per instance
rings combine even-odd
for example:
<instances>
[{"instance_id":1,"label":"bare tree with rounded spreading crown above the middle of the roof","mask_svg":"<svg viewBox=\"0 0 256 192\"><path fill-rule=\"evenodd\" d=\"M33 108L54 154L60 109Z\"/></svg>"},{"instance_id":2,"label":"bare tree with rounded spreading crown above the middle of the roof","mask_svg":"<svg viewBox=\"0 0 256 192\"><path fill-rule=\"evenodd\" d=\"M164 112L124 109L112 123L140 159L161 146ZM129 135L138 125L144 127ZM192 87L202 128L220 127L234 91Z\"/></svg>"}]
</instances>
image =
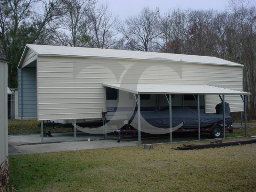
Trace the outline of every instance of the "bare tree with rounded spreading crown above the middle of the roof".
<instances>
[{"instance_id":1,"label":"bare tree with rounded spreading crown above the middle of the roof","mask_svg":"<svg viewBox=\"0 0 256 192\"><path fill-rule=\"evenodd\" d=\"M139 15L128 17L124 23L119 23L118 30L132 49L149 51L149 44L156 42L161 34L157 12L145 7Z\"/></svg>"}]
</instances>

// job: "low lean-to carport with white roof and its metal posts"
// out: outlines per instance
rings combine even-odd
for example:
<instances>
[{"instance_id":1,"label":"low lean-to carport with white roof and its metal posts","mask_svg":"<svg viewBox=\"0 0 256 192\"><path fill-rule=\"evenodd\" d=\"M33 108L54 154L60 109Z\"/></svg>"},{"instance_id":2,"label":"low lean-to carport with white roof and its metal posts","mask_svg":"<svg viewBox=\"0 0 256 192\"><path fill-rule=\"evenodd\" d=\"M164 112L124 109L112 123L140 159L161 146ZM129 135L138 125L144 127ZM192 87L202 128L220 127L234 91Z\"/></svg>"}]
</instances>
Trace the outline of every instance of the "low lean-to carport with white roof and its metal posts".
<instances>
[{"instance_id":1,"label":"low lean-to carport with white roof and its metal posts","mask_svg":"<svg viewBox=\"0 0 256 192\"><path fill-rule=\"evenodd\" d=\"M103 83L105 87L110 87L126 92L131 92L137 94L136 102L138 105L137 114L140 114L140 94L165 94L169 97L169 110L170 110L170 142L172 142L172 94L193 94L197 95L197 111L198 111L198 140L200 140L200 106L199 106L199 95L219 95L223 103L223 125L225 125L225 95L240 95L244 102L244 128L245 135L247 135L247 118L246 118L246 95L249 92L241 92L231 89L224 89L216 86L210 85L200 85L200 84L118 84L118 83ZM222 98L221 98L222 95ZM224 135L225 138L225 126ZM140 115L138 115L138 141L141 145L141 125L140 125Z\"/></svg>"}]
</instances>

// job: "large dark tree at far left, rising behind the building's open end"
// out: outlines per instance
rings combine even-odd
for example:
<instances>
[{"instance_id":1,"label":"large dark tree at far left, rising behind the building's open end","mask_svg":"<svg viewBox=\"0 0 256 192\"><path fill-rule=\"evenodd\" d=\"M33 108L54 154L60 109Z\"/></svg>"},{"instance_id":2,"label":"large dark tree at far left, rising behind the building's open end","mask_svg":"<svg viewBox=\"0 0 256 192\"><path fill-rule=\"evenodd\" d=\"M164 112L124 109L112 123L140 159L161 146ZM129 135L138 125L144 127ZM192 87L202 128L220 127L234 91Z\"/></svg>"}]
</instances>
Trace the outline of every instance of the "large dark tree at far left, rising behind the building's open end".
<instances>
[{"instance_id":1,"label":"large dark tree at far left, rising behind the building's open end","mask_svg":"<svg viewBox=\"0 0 256 192\"><path fill-rule=\"evenodd\" d=\"M54 30L51 23L60 16L60 0L0 0L0 4L0 53L10 60L8 85L17 87L17 65L24 46ZM36 6L40 12L33 9Z\"/></svg>"}]
</instances>

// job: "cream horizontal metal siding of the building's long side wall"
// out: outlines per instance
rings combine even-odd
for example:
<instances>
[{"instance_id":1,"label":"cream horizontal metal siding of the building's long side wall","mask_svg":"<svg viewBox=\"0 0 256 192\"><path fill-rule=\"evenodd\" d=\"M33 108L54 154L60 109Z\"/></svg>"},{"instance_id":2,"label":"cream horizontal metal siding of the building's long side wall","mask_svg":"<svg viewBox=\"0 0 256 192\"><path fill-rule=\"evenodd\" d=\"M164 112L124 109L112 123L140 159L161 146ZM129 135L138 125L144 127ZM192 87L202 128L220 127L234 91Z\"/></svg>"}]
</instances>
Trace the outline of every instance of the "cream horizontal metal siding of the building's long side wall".
<instances>
[{"instance_id":1,"label":"cream horizontal metal siding of the building's long side wall","mask_svg":"<svg viewBox=\"0 0 256 192\"><path fill-rule=\"evenodd\" d=\"M112 69L115 69L117 64L121 63L126 68L124 75L127 69L138 61L38 56L37 62L38 119L48 120L101 118L101 108L104 110L106 107L102 83L121 83L121 80L117 81L111 70L100 65L113 63ZM143 72L139 83L208 84L243 91L241 66L183 64L183 76L180 79L171 68L159 66L168 65L168 62L147 63L158 66L150 67L144 72L142 69L136 70L129 74L129 78L133 80L136 73ZM76 77L73 74L74 64L75 71L79 72ZM93 66L84 69L80 64ZM243 110L242 100L239 98L240 96L226 96L231 111ZM206 112L215 112L215 105L220 102L219 96L207 95L205 100Z\"/></svg>"}]
</instances>

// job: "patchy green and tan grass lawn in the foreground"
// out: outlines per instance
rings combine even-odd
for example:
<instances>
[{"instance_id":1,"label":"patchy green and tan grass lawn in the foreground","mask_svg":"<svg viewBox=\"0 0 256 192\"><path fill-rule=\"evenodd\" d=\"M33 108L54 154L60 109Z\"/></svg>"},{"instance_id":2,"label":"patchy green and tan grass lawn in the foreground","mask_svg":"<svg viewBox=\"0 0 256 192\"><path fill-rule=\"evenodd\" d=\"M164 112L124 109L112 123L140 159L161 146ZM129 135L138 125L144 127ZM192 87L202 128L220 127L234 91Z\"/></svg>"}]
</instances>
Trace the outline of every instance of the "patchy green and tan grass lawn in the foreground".
<instances>
[{"instance_id":1,"label":"patchy green and tan grass lawn in the foreground","mask_svg":"<svg viewBox=\"0 0 256 192\"><path fill-rule=\"evenodd\" d=\"M256 144L173 150L179 144L10 156L18 191L254 191Z\"/></svg>"}]
</instances>

